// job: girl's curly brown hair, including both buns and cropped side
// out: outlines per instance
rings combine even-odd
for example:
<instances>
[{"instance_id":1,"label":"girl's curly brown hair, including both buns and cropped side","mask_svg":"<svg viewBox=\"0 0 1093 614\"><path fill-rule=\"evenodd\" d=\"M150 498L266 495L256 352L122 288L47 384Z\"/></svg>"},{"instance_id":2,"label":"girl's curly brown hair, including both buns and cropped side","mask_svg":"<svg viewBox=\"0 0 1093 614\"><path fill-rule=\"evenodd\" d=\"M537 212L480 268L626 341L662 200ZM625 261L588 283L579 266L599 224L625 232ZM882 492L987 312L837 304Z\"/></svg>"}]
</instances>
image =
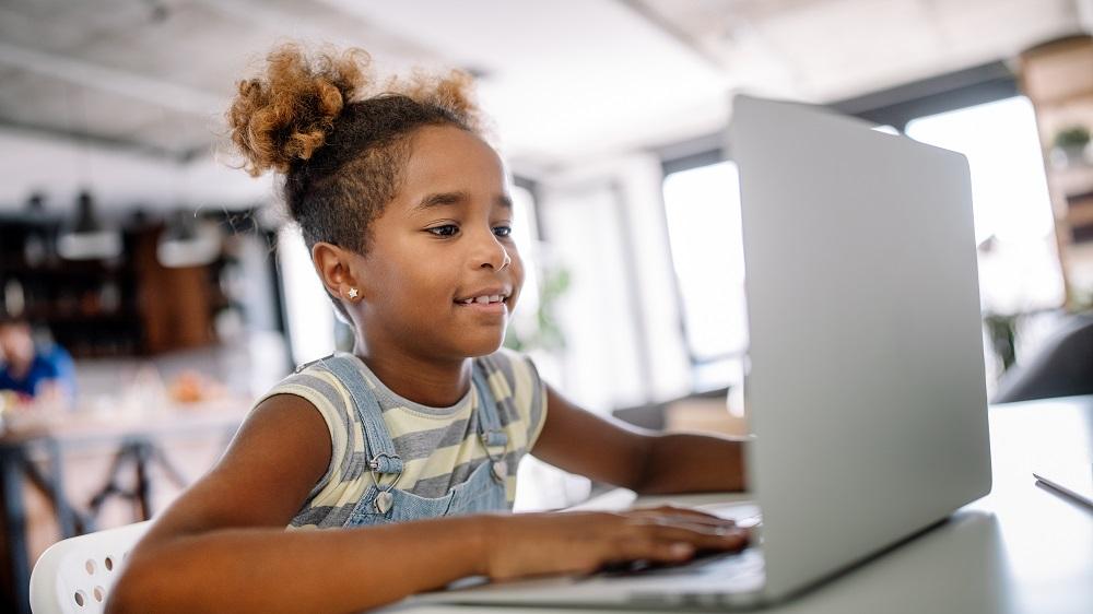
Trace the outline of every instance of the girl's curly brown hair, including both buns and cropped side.
<instances>
[{"instance_id":1,"label":"girl's curly brown hair, including both buns and cropped side","mask_svg":"<svg viewBox=\"0 0 1093 614\"><path fill-rule=\"evenodd\" d=\"M284 176L283 197L308 249L318 241L366 253L371 223L398 190L411 137L450 125L482 134L471 78L451 71L376 83L363 49L308 57L286 44L265 74L240 81L226 114L251 176Z\"/></svg>"}]
</instances>

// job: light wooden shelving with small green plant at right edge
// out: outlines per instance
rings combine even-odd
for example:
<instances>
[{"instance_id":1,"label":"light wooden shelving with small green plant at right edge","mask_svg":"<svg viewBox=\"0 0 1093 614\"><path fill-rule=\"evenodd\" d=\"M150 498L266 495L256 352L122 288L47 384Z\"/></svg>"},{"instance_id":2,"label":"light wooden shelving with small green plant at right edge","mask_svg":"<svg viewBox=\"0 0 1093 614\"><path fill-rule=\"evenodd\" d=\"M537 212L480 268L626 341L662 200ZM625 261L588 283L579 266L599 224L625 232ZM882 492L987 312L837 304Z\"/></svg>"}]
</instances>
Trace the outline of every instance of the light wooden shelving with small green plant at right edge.
<instances>
[{"instance_id":1,"label":"light wooden shelving with small green plant at right edge","mask_svg":"<svg viewBox=\"0 0 1093 614\"><path fill-rule=\"evenodd\" d=\"M1093 297L1093 146L1060 147L1060 133L1093 131L1093 37L1045 43L1020 57L1036 109L1068 304Z\"/></svg>"}]
</instances>

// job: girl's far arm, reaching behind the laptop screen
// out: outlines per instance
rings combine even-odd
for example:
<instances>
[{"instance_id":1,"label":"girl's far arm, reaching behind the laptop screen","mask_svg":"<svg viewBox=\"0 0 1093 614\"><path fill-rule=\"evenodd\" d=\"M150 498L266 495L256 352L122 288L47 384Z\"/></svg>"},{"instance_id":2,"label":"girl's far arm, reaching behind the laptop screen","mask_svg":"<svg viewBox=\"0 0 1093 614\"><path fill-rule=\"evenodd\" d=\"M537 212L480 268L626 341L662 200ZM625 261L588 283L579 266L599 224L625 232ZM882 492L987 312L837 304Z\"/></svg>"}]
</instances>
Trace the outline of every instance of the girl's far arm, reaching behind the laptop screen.
<instances>
[{"instance_id":1,"label":"girl's far arm, reaching behind the laptop screen","mask_svg":"<svg viewBox=\"0 0 1093 614\"><path fill-rule=\"evenodd\" d=\"M589 413L546 387L546 424L532 453L560 469L639 494L742 491L743 441L660 434Z\"/></svg>"}]
</instances>

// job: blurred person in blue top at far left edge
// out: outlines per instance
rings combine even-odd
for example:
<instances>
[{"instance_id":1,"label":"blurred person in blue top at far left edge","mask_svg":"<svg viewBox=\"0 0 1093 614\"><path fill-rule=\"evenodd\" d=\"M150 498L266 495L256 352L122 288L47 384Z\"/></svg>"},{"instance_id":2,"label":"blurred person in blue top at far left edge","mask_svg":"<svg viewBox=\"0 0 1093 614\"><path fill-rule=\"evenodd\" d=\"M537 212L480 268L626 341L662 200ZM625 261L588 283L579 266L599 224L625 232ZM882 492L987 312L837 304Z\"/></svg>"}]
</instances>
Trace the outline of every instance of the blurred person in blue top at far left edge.
<instances>
[{"instance_id":1,"label":"blurred person in blue top at far left edge","mask_svg":"<svg viewBox=\"0 0 1093 614\"><path fill-rule=\"evenodd\" d=\"M72 356L56 343L36 343L26 319L0 316L0 390L34 401L71 402L75 394Z\"/></svg>"}]
</instances>

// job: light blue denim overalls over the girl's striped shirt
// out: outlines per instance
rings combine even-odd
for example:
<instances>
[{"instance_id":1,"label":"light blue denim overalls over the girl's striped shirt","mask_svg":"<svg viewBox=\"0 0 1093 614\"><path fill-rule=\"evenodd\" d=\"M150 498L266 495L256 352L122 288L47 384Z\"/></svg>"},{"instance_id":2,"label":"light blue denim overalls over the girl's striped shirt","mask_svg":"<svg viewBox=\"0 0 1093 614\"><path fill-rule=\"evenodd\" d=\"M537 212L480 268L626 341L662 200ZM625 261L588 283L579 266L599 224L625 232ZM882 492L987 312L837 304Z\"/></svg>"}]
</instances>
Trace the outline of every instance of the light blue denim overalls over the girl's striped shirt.
<instances>
[{"instance_id":1,"label":"light blue denim overalls over the girl's striped shirt","mask_svg":"<svg viewBox=\"0 0 1093 614\"><path fill-rule=\"evenodd\" d=\"M354 364L355 359L349 355L322 359L322 365L349 390L361 416L365 458L368 459L367 470L373 477L373 485L353 508L345 527L508 509L505 498L508 471L504 460L508 436L501 427L497 403L486 383L485 374L478 364L474 365L472 379L478 390L479 406L472 410L471 420L475 422L479 440L485 446L487 459L471 472L466 482L453 486L445 496L431 499L396 488L402 473L402 459L395 451L379 402L365 381L364 374Z\"/></svg>"}]
</instances>

